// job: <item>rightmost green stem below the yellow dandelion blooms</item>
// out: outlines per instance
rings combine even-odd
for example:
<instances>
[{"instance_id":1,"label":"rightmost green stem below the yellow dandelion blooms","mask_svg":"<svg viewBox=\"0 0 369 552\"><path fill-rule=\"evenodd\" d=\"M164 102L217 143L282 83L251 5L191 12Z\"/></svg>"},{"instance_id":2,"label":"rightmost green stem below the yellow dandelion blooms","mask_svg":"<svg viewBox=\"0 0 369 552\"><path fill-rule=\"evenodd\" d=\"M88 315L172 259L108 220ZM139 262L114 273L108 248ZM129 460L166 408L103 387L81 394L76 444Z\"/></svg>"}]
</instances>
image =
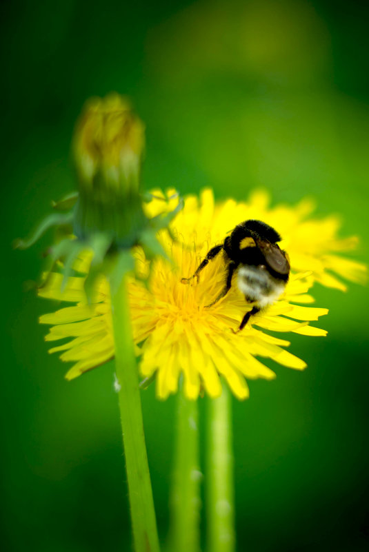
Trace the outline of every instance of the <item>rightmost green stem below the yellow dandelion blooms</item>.
<instances>
[{"instance_id":1,"label":"rightmost green stem below the yellow dandelion blooms","mask_svg":"<svg viewBox=\"0 0 369 552\"><path fill-rule=\"evenodd\" d=\"M231 406L230 391L223 382L221 396L208 399L206 500L209 552L235 550Z\"/></svg>"}]
</instances>

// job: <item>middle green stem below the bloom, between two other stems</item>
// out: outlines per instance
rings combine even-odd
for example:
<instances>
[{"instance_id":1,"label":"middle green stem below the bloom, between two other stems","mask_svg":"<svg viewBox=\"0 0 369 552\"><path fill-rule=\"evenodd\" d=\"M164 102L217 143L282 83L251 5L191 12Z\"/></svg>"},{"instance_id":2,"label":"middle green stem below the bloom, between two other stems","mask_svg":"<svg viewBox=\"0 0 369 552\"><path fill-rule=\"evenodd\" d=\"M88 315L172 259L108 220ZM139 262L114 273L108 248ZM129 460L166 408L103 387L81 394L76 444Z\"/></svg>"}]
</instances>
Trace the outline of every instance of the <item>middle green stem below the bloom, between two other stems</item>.
<instances>
[{"instance_id":1,"label":"middle green stem below the bloom, between two other stems","mask_svg":"<svg viewBox=\"0 0 369 552\"><path fill-rule=\"evenodd\" d=\"M198 552L201 500L199 487L199 407L183 391L177 393L177 431L172 487L171 551Z\"/></svg>"}]
</instances>

